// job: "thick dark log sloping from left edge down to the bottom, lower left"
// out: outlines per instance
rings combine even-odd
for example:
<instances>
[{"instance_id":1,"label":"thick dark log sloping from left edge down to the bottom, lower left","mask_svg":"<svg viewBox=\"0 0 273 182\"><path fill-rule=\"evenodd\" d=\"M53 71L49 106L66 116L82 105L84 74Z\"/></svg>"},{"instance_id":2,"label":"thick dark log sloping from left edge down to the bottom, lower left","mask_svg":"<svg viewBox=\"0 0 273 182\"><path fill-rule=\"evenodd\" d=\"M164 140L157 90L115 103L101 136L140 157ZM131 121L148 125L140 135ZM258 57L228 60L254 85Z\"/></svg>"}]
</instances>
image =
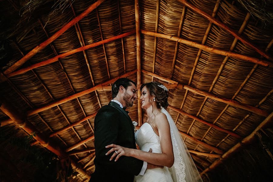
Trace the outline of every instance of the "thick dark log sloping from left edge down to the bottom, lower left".
<instances>
[{"instance_id":1,"label":"thick dark log sloping from left edge down to the bottom, lower left","mask_svg":"<svg viewBox=\"0 0 273 182\"><path fill-rule=\"evenodd\" d=\"M8 104L8 102L0 98L0 110L9 116L15 124L21 127L30 135L35 133L34 138L41 143L41 145L51 152L55 153L60 159L68 158L68 155L62 151L62 149L56 145L51 139L45 137L42 133L40 133L35 126L32 125L29 121L25 120L24 117L15 110L15 108ZM83 177L90 178L90 176L71 159L71 166L74 170L80 173Z\"/></svg>"}]
</instances>

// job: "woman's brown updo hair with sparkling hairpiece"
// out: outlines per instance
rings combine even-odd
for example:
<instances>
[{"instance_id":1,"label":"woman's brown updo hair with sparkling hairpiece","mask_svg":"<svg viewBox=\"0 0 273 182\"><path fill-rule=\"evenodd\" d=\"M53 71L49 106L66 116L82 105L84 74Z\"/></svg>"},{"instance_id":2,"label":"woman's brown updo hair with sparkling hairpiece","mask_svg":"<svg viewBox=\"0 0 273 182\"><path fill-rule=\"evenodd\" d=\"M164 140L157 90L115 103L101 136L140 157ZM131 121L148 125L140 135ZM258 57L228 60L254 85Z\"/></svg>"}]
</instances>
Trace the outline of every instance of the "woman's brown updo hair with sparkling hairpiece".
<instances>
[{"instance_id":1,"label":"woman's brown updo hair with sparkling hairpiece","mask_svg":"<svg viewBox=\"0 0 273 182\"><path fill-rule=\"evenodd\" d=\"M164 107L164 109L166 109L169 106L168 103L169 92L165 86L158 82L149 82L142 84L140 86L140 90L142 90L144 86L146 86L147 90L149 90L150 95L155 98L157 108ZM150 100L152 101L153 98Z\"/></svg>"}]
</instances>

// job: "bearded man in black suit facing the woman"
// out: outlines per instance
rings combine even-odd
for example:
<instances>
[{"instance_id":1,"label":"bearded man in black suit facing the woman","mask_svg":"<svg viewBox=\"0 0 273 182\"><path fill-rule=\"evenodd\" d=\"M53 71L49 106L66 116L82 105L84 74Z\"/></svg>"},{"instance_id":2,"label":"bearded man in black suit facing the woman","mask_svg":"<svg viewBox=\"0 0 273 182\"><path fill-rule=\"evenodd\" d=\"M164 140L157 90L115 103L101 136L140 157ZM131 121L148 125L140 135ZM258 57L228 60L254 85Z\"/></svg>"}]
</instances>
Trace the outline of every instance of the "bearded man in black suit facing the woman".
<instances>
[{"instance_id":1,"label":"bearded man in black suit facing the woman","mask_svg":"<svg viewBox=\"0 0 273 182\"><path fill-rule=\"evenodd\" d=\"M126 107L133 106L136 99L136 83L127 78L120 78L112 85L112 98L108 105L103 106L94 121L95 172L90 182L96 181L132 181L134 175L143 175L146 169L159 166L133 157L122 156L118 161L110 161L105 155L110 149L105 146L117 144L136 149L134 127Z\"/></svg>"}]
</instances>

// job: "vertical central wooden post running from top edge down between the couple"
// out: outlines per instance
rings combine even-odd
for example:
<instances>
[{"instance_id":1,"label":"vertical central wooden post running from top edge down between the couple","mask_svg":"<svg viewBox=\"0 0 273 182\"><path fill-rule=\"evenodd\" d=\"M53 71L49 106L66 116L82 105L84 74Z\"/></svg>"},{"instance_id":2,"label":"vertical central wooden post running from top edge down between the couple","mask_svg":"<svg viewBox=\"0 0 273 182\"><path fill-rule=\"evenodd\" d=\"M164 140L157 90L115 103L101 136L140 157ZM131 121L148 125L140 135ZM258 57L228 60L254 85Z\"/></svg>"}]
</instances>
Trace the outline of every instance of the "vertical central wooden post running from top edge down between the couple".
<instances>
[{"instance_id":1,"label":"vertical central wooden post running from top edge down between the couple","mask_svg":"<svg viewBox=\"0 0 273 182\"><path fill-rule=\"evenodd\" d=\"M139 12L139 2L135 0L135 17L136 17L136 80L137 85L141 84L141 48L140 48L140 12ZM137 97L141 97L141 90L137 90ZM142 108L140 99L137 99L137 113L138 113L138 125L142 124Z\"/></svg>"}]
</instances>

